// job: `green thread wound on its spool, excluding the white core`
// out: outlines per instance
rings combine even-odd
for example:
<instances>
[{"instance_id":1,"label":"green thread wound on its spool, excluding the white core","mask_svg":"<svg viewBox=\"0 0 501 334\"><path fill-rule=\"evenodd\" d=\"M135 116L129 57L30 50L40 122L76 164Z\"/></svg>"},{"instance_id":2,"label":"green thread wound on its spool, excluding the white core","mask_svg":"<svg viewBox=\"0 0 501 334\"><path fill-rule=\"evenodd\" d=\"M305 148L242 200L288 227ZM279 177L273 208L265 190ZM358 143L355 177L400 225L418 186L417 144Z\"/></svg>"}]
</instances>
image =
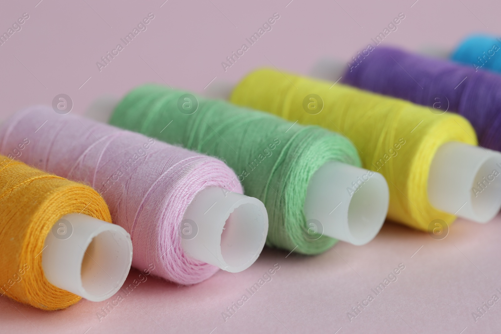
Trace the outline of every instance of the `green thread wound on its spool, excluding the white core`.
<instances>
[{"instance_id":1,"label":"green thread wound on its spool, excluding the white core","mask_svg":"<svg viewBox=\"0 0 501 334\"><path fill-rule=\"evenodd\" d=\"M192 109L184 110L183 103L192 103L185 106ZM158 85L129 92L110 123L223 159L237 173L245 194L265 204L269 246L318 254L337 241L308 233L304 203L310 178L326 162L360 166L346 138Z\"/></svg>"}]
</instances>

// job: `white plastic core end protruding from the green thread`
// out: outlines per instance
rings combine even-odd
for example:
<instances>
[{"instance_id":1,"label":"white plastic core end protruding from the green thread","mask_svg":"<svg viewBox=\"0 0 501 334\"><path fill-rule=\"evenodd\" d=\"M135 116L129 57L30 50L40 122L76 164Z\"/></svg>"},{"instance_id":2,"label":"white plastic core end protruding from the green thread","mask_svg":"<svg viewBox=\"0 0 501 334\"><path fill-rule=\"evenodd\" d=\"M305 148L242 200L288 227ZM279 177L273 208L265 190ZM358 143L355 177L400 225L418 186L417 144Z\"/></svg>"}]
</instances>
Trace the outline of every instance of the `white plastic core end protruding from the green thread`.
<instances>
[{"instance_id":1,"label":"white plastic core end protruding from the green thread","mask_svg":"<svg viewBox=\"0 0 501 334\"><path fill-rule=\"evenodd\" d=\"M328 235L354 245L371 241L388 212L389 190L383 175L328 162L313 174L305 200L312 237Z\"/></svg>"}]
</instances>

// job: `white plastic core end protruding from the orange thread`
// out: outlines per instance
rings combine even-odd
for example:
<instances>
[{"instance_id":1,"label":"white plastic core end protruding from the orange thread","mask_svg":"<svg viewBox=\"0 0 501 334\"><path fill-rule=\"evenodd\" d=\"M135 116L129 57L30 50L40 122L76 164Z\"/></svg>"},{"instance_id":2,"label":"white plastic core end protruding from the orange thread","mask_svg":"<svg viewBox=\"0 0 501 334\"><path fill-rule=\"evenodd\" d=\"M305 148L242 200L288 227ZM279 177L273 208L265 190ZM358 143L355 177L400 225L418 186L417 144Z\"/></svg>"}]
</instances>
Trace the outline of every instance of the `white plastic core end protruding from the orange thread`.
<instances>
[{"instance_id":1,"label":"white plastic core end protruding from the orange thread","mask_svg":"<svg viewBox=\"0 0 501 334\"><path fill-rule=\"evenodd\" d=\"M45 238L42 267L47 280L91 301L114 295L131 263L129 233L85 214L63 216Z\"/></svg>"}]
</instances>

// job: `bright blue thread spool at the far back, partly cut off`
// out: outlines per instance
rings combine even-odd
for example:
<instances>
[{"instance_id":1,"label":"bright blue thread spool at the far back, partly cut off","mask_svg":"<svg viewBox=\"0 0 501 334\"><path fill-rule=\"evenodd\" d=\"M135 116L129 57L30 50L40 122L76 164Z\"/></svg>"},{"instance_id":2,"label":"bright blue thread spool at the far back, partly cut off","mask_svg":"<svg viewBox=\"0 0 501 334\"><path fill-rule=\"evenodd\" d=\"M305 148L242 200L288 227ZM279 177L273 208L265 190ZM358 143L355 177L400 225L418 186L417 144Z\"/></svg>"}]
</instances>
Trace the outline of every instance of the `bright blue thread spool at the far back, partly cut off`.
<instances>
[{"instance_id":1,"label":"bright blue thread spool at the far back, partly cut off","mask_svg":"<svg viewBox=\"0 0 501 334\"><path fill-rule=\"evenodd\" d=\"M462 41L450 59L477 70L501 73L501 41L489 35L472 35Z\"/></svg>"}]
</instances>

